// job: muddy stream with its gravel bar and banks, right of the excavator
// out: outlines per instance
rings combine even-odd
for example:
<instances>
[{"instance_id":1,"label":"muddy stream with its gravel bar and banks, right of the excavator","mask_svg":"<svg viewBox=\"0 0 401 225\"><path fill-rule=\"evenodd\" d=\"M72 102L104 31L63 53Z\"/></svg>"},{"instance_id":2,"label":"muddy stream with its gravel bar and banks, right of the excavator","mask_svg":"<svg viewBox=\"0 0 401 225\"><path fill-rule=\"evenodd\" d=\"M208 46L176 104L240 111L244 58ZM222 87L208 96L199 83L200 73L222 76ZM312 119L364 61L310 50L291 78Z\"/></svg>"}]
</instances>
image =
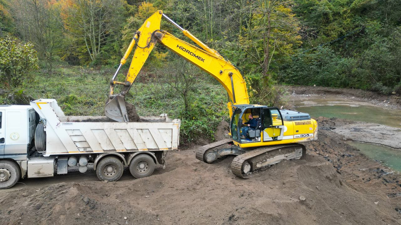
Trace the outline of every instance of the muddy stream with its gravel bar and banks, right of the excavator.
<instances>
[{"instance_id":1,"label":"muddy stream with its gravel bar and banks, right of the excavator","mask_svg":"<svg viewBox=\"0 0 401 225\"><path fill-rule=\"evenodd\" d=\"M371 159L401 172L398 96L313 86L293 86L289 90L288 108L309 113L318 121L319 130L342 135L344 141Z\"/></svg>"}]
</instances>

